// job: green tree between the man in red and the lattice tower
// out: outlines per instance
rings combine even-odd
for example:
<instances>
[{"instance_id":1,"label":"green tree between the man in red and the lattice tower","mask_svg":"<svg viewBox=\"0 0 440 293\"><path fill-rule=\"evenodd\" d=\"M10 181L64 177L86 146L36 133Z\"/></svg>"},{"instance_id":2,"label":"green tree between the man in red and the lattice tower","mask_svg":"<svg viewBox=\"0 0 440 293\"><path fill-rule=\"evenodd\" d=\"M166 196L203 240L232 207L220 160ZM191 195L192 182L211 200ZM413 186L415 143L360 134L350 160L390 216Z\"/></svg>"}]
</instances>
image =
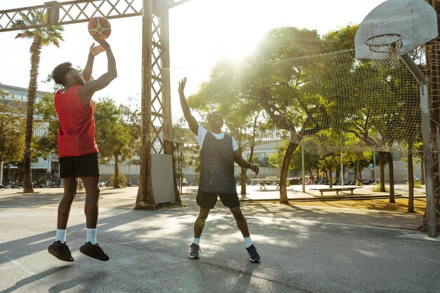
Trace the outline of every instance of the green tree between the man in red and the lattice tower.
<instances>
[{"instance_id":1,"label":"green tree between the man in red and the lattice tower","mask_svg":"<svg viewBox=\"0 0 440 293\"><path fill-rule=\"evenodd\" d=\"M119 163L129 160L138 150L139 118L137 110L117 106L108 98L95 103L96 144L103 160L115 161L114 178L119 178ZM113 188L119 188L117 180L114 180Z\"/></svg>"}]
</instances>

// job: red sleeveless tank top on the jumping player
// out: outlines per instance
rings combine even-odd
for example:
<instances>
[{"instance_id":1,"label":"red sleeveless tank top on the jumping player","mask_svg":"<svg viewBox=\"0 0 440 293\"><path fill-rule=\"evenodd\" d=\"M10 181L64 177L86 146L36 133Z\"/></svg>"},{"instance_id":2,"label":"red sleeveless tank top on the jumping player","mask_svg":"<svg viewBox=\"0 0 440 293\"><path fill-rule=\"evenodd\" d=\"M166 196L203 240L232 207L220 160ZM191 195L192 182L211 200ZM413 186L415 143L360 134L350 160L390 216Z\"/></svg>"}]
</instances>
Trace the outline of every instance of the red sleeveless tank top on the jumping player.
<instances>
[{"instance_id":1,"label":"red sleeveless tank top on the jumping player","mask_svg":"<svg viewBox=\"0 0 440 293\"><path fill-rule=\"evenodd\" d=\"M55 109L60 121L58 129L58 156L82 156L98 153L95 142L93 101L84 106L79 97L80 86L71 86L65 92L55 94Z\"/></svg>"}]
</instances>

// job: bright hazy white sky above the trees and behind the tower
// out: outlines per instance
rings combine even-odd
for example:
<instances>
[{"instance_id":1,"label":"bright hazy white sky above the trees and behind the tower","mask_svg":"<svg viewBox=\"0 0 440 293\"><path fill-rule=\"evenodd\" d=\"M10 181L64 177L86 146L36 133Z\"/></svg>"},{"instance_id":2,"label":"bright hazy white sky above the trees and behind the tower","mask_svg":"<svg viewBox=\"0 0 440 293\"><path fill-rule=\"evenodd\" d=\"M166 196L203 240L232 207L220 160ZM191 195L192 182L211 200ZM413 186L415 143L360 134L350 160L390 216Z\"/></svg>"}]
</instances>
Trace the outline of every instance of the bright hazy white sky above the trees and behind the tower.
<instances>
[{"instance_id":1,"label":"bright hazy white sky above the trees and behind the tower","mask_svg":"<svg viewBox=\"0 0 440 293\"><path fill-rule=\"evenodd\" d=\"M135 1L140 7L142 0ZM0 11L44 2L0 1ZM195 92L217 61L225 57L240 60L252 52L269 29L305 27L316 29L323 35L349 23L360 23L382 2L384 0L192 0L172 8L169 13L172 111L180 111L177 86L181 78L188 76L187 95ZM127 97L140 99L141 21L141 17L110 21L112 34L108 42L116 58L118 77L110 86L96 93L94 99L112 97L120 103L127 102ZM86 22L66 25L63 33L65 41L60 48L49 46L42 49L39 81L44 80L61 62L70 61L74 67L79 65L84 68L89 46L93 42L86 26ZM27 88L31 40L14 39L17 33L0 33L0 82ZM96 57L93 76L96 78L103 74L106 66L105 54L101 53ZM38 89L51 91L51 86L39 83Z\"/></svg>"}]
</instances>

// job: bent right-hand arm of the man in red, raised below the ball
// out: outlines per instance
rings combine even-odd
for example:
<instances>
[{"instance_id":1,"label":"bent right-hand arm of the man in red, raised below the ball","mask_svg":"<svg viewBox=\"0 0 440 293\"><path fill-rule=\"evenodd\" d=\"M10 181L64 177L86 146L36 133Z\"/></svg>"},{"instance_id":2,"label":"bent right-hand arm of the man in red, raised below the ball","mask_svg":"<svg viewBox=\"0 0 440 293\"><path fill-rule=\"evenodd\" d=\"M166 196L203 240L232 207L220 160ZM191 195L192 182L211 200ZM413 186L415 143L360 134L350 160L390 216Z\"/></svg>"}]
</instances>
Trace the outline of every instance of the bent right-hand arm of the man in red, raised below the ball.
<instances>
[{"instance_id":1,"label":"bent right-hand arm of the man in red, raised below the ball","mask_svg":"<svg viewBox=\"0 0 440 293\"><path fill-rule=\"evenodd\" d=\"M94 81L84 83L84 86L79 89L79 97L81 97L85 105L90 105L93 94L108 86L108 84L117 77L115 56L113 56L109 43L104 39L98 39L96 36L93 36L93 39L105 49L105 53L107 54L107 72Z\"/></svg>"}]
</instances>

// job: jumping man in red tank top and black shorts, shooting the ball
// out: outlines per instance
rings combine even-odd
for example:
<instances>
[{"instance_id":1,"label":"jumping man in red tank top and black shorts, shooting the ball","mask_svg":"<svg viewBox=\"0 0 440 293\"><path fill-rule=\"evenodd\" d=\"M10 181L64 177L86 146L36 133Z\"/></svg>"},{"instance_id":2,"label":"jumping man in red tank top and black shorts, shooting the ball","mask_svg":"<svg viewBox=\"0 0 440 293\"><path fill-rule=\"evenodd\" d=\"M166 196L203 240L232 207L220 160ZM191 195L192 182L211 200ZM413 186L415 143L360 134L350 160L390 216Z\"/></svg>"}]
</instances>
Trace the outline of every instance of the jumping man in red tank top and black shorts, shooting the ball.
<instances>
[{"instance_id":1,"label":"jumping man in red tank top and black shorts, shooting the ball","mask_svg":"<svg viewBox=\"0 0 440 293\"><path fill-rule=\"evenodd\" d=\"M55 109L60 121L58 130L58 155L60 178L63 178L64 194L58 205L56 238L48 252L62 261L74 261L65 243L70 207L77 195L78 179L86 189L86 243L79 251L89 257L107 261L108 255L96 243L99 199L99 151L95 142L95 120L93 118L93 94L102 90L116 78L116 62L110 45L94 37L100 46L91 46L83 74L78 73L70 62L59 64L53 69L53 80L64 88L55 94ZM98 79L89 81L94 56L105 50L107 72Z\"/></svg>"}]
</instances>

